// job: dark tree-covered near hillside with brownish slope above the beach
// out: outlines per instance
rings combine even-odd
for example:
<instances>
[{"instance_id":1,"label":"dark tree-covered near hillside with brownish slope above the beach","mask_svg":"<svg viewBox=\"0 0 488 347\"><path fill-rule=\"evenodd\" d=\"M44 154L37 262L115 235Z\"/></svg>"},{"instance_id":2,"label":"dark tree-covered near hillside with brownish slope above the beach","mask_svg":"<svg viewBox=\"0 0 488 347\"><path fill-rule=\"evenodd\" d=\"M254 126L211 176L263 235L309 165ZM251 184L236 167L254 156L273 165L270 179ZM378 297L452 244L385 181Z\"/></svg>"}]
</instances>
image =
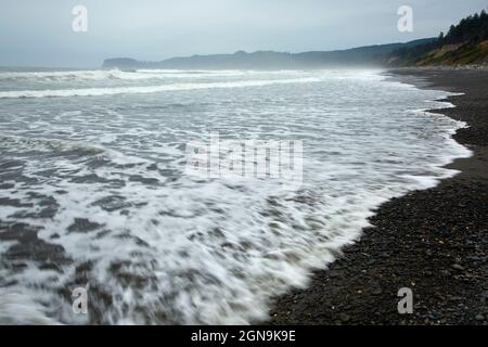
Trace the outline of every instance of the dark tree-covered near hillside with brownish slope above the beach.
<instances>
[{"instance_id":1,"label":"dark tree-covered near hillside with brownish slope above the beach","mask_svg":"<svg viewBox=\"0 0 488 347\"><path fill-rule=\"evenodd\" d=\"M399 48L386 61L389 66L488 65L488 14L463 18L445 36L426 44Z\"/></svg>"}]
</instances>

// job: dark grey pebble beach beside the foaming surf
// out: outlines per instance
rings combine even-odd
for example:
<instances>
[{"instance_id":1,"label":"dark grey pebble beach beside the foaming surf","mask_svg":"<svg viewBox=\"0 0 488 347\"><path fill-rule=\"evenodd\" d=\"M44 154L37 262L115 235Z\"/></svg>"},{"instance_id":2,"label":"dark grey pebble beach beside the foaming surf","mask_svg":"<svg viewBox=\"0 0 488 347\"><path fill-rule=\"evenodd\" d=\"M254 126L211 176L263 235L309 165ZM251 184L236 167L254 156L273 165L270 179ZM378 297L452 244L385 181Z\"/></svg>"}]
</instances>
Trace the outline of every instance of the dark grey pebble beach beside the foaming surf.
<instances>
[{"instance_id":1,"label":"dark grey pebble beach beside the foaming surf","mask_svg":"<svg viewBox=\"0 0 488 347\"><path fill-rule=\"evenodd\" d=\"M273 300L267 324L487 324L488 70L402 68L395 80L461 95L455 107L428 110L465 121L452 138L473 152L447 168L438 185L393 198L370 218L359 241L305 290ZM413 313L399 314L410 287Z\"/></svg>"}]
</instances>

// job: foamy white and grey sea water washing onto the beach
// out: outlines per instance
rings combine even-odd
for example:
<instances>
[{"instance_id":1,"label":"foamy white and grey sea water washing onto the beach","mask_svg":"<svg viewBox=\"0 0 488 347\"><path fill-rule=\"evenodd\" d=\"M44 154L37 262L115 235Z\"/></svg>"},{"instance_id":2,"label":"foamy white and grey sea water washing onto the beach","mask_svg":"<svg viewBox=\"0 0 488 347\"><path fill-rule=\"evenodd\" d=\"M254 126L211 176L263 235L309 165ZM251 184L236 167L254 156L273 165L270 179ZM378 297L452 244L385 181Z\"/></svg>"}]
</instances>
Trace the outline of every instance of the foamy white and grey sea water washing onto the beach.
<instances>
[{"instance_id":1,"label":"foamy white and grey sea water washing onto the beach","mask_svg":"<svg viewBox=\"0 0 488 347\"><path fill-rule=\"evenodd\" d=\"M0 72L0 322L266 319L372 209L455 174L463 125L422 111L447 95L380 70ZM184 175L211 131L303 140L301 188Z\"/></svg>"}]
</instances>

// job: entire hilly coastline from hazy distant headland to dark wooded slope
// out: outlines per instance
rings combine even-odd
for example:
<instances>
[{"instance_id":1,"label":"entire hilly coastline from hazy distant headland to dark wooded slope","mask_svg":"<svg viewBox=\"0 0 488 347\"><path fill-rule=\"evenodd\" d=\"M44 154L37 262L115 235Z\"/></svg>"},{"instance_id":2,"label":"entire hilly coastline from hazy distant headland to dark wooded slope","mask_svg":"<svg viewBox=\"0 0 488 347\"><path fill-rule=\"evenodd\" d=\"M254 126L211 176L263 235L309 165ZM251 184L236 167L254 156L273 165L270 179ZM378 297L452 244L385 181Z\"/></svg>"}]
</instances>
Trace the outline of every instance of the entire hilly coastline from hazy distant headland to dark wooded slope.
<instances>
[{"instance_id":1,"label":"entire hilly coastline from hazy distant headland to dark wooded slope","mask_svg":"<svg viewBox=\"0 0 488 347\"><path fill-rule=\"evenodd\" d=\"M447 35L407 43L376 44L341 51L285 53L258 51L234 54L192 55L160 62L128 57L107 59L104 68L178 69L293 69L350 66L488 65L488 14L486 11L452 25Z\"/></svg>"}]
</instances>

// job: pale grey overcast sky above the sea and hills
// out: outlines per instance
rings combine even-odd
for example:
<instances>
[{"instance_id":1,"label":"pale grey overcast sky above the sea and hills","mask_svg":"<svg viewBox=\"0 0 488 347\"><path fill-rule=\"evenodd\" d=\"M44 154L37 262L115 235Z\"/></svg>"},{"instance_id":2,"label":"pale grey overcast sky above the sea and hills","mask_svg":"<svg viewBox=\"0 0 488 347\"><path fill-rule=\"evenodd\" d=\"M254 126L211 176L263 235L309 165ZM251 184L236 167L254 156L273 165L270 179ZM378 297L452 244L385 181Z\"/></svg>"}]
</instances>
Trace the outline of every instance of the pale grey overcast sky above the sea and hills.
<instances>
[{"instance_id":1,"label":"pale grey overcast sky above the sea and hills","mask_svg":"<svg viewBox=\"0 0 488 347\"><path fill-rule=\"evenodd\" d=\"M72 10L88 10L74 33ZM413 8L413 33L397 29ZM0 65L98 67L237 50L303 52L437 36L486 0L0 0Z\"/></svg>"}]
</instances>

